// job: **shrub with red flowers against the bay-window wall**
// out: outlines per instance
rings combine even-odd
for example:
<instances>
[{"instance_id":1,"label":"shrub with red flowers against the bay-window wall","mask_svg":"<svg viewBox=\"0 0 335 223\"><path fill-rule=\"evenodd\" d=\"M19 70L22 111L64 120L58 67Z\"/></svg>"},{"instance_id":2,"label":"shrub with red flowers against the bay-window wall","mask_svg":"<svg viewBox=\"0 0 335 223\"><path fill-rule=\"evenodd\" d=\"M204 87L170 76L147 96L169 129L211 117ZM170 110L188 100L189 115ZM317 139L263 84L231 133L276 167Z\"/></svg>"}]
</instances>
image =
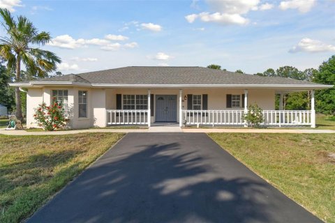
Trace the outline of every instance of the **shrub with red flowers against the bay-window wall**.
<instances>
[{"instance_id":1,"label":"shrub with red flowers against the bay-window wall","mask_svg":"<svg viewBox=\"0 0 335 223\"><path fill-rule=\"evenodd\" d=\"M50 106L47 106L45 102L38 105L35 109L34 118L38 125L47 131L66 127L64 108L61 102L57 102L57 100L54 100Z\"/></svg>"}]
</instances>

